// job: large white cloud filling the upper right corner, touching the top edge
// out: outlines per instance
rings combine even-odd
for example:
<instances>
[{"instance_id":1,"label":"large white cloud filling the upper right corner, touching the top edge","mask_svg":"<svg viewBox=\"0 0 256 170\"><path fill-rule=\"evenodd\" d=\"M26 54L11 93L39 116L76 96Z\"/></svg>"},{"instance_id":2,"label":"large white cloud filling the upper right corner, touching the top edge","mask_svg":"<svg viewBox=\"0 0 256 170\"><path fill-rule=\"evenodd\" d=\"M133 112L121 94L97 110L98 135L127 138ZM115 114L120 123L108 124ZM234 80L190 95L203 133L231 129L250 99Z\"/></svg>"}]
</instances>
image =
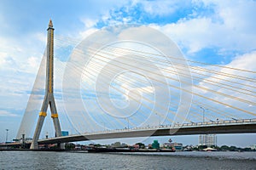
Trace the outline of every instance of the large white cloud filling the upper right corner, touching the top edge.
<instances>
[{"instance_id":1,"label":"large white cloud filling the upper right corner, touching the top edge","mask_svg":"<svg viewBox=\"0 0 256 170\"><path fill-rule=\"evenodd\" d=\"M189 53L195 53L203 48L220 48L247 52L255 49L256 2L244 3L221 1L225 3L207 3L214 8L214 14L195 18L183 18L177 23L165 26L151 25L173 38ZM196 12L195 12L196 13Z\"/></svg>"}]
</instances>

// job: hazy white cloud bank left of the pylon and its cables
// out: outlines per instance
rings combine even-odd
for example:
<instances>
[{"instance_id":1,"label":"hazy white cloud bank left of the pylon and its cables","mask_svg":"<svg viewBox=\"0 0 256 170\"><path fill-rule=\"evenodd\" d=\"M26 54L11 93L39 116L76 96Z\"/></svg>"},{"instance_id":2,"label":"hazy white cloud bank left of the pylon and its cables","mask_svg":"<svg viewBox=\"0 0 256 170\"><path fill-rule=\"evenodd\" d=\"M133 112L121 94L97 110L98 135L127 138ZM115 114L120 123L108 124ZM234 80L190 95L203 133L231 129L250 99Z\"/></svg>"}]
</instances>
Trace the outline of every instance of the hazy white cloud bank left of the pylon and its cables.
<instances>
[{"instance_id":1,"label":"hazy white cloud bank left of the pylon and its cables","mask_svg":"<svg viewBox=\"0 0 256 170\"><path fill-rule=\"evenodd\" d=\"M14 105L18 110L26 108L28 92L32 89L45 48L40 35L32 33L26 38L0 35L1 103L5 109L13 109ZM22 113L20 111L19 115Z\"/></svg>"}]
</instances>

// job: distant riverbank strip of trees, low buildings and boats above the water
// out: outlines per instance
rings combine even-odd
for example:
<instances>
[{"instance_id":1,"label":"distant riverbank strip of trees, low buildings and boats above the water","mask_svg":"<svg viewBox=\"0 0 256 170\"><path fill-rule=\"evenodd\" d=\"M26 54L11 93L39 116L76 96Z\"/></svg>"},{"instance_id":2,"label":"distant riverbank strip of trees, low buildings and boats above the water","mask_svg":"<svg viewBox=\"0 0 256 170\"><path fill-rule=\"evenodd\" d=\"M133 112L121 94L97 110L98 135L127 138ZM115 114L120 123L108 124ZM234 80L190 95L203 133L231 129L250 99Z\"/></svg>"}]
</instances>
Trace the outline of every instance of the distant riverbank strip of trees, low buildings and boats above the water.
<instances>
[{"instance_id":1,"label":"distant riverbank strip of trees, low buildings and boats above the water","mask_svg":"<svg viewBox=\"0 0 256 170\"><path fill-rule=\"evenodd\" d=\"M0 147L0 151L4 150L29 150L29 144L21 146L5 146ZM154 140L153 144L145 145L143 143L137 143L133 145L121 144L115 142L113 144L65 144L65 150L59 150L57 144L40 144L39 151L65 151L65 150L80 150L81 152L175 152L175 151L256 151L249 147L240 148L236 146L216 146L216 145L185 145L170 143L159 144L157 140Z\"/></svg>"}]
</instances>

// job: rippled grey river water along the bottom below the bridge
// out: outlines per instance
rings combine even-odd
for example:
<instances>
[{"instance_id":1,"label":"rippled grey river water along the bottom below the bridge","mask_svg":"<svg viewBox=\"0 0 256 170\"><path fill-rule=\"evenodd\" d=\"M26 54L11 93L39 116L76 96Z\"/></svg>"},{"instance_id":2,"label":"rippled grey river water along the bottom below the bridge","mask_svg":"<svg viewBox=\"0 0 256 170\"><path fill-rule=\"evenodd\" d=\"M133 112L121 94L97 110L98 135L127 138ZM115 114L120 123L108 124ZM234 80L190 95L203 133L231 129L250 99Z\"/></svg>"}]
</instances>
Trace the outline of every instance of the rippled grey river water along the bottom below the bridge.
<instances>
[{"instance_id":1,"label":"rippled grey river water along the bottom below the bridge","mask_svg":"<svg viewBox=\"0 0 256 170\"><path fill-rule=\"evenodd\" d=\"M0 169L256 169L256 152L0 151Z\"/></svg>"}]
</instances>

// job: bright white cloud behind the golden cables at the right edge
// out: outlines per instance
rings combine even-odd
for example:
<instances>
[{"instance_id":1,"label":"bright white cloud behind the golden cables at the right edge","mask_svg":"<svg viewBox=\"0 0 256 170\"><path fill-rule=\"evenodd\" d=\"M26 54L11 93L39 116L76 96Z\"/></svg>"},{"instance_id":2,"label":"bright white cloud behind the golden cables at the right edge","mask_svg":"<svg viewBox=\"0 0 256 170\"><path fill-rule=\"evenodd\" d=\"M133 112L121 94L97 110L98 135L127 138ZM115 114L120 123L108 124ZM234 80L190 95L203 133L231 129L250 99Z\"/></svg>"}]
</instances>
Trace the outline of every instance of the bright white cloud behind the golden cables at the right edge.
<instances>
[{"instance_id":1,"label":"bright white cloud behind the golden cables at the right edge","mask_svg":"<svg viewBox=\"0 0 256 170\"><path fill-rule=\"evenodd\" d=\"M243 69L247 71L256 71L256 51L253 51L252 53L249 54L243 54L241 56L237 56L235 59L233 59L230 64L224 65L227 67L231 68L237 68L237 69ZM238 77L248 77L248 78L253 78L255 80L255 73L252 72L247 72L247 71L237 71L234 69L229 69L229 68L218 68L218 67L212 67L212 66L207 66L206 69L211 69L213 71L218 71L218 73L225 73L225 74L230 74ZM218 79L216 79L218 78ZM221 80L222 79L222 80ZM220 86L213 86L209 83L208 81L213 81L214 84ZM231 81L231 82L229 82ZM244 85L241 85L241 84ZM230 86L223 86L223 84L227 84L233 87L237 88L231 88ZM239 78L234 78L233 76L222 76L222 75L216 75L212 74L211 76L203 79L201 82L199 82L199 85L203 88L208 88L210 90L213 90L216 93L222 93L222 94L228 94L230 96L234 96L236 98L240 98L241 100L247 100L248 102L253 102L256 103L255 97L252 96L252 92L249 92L247 90L255 92L255 88L250 88L248 86L253 86L255 82L250 82L247 80L241 80ZM223 87L223 88L221 88ZM230 88L230 89L227 89ZM243 90L245 89L245 90ZM215 99L219 102L223 102L224 104L227 105L232 105L235 107L239 107L242 110L245 111L250 111L250 112L255 112L255 105L250 105L248 102L241 101L240 99L232 99L228 96L222 95L222 94L214 94L210 92L210 90L205 90L205 89L199 89L195 88L195 93L197 94L203 94L207 96L210 99ZM255 94L253 94L255 95ZM208 104L211 103L210 100L206 99L202 101L203 104ZM234 114L235 116L241 116L243 118L247 118L250 116L250 114L246 114L242 111L237 111L237 110L230 110L230 107L224 107L224 105L219 105L216 102L213 102L212 104L213 107L218 108L218 110L221 111L228 111L231 114ZM251 115L252 116L252 115Z\"/></svg>"}]
</instances>

